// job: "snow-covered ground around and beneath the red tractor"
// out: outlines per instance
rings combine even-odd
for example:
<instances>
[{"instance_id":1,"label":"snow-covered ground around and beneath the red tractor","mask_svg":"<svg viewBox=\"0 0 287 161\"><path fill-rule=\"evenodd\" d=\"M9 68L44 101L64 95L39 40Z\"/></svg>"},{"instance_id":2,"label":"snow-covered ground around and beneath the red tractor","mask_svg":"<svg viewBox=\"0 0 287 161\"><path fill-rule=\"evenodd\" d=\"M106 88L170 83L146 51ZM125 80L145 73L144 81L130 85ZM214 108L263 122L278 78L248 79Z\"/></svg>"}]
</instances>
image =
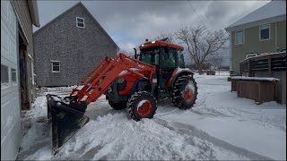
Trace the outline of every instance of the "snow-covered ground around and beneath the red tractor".
<instances>
[{"instance_id":1,"label":"snow-covered ground around and beneath the red tractor","mask_svg":"<svg viewBox=\"0 0 287 161\"><path fill-rule=\"evenodd\" d=\"M40 89L22 119L25 136L17 159L103 160L286 160L286 105L230 92L228 73L195 75L196 105L179 110L160 102L152 119L135 122L113 110L102 96L91 103L91 118L52 156L46 93L65 96L69 88Z\"/></svg>"}]
</instances>

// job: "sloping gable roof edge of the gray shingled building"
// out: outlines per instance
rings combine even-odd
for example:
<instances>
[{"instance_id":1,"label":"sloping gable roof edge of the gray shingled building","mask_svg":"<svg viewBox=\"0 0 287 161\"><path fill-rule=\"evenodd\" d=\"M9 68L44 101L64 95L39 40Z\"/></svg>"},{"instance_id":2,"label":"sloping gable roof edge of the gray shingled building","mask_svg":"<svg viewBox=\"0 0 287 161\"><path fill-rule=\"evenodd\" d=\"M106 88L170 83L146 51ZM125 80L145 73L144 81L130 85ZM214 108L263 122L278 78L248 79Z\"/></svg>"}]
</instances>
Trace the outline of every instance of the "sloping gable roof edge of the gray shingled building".
<instances>
[{"instance_id":1,"label":"sloping gable roof edge of the gray shingled building","mask_svg":"<svg viewBox=\"0 0 287 161\"><path fill-rule=\"evenodd\" d=\"M72 9L74 9L76 6L78 5L82 5L84 10L89 14L89 16L91 17L92 21L94 21L99 27L100 27L100 30L109 38L109 40L115 44L115 46L117 48L119 48L116 44L116 42L110 38L109 34L107 33L106 30L104 30L101 26L100 26L100 23L93 17L93 15L89 12L89 10L84 6L84 4L82 2L78 2L77 4L74 4L71 8L67 9L64 13L61 13L59 14L56 18L54 18L53 20L51 21L48 21L48 23L46 23L43 27L41 27L39 30L36 30L33 35L36 35L39 33L40 30L43 30L45 29L49 24L51 24L53 21L56 21L57 19L59 19L60 17L64 16L65 13L68 13L69 11L71 11Z\"/></svg>"}]
</instances>

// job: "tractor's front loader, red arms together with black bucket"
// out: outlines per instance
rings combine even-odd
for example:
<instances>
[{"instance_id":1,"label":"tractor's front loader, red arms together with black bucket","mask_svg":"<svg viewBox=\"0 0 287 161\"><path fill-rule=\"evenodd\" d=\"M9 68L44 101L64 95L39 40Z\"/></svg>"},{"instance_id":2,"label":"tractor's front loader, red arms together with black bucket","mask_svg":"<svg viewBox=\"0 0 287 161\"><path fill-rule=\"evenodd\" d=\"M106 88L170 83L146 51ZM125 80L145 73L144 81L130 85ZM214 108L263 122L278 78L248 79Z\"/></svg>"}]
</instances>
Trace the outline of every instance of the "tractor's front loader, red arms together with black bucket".
<instances>
[{"instance_id":1,"label":"tractor's front loader, red arms together with black bucket","mask_svg":"<svg viewBox=\"0 0 287 161\"><path fill-rule=\"evenodd\" d=\"M134 69L149 71L148 77ZM84 112L91 102L96 101L105 93L120 72L127 71L137 74L152 83L155 66L130 58L123 53L115 59L105 57L89 72L81 83L82 89L73 89L69 97L58 97L48 94L48 118L52 122L52 146L55 155L59 148L69 140L76 131L89 122Z\"/></svg>"}]
</instances>

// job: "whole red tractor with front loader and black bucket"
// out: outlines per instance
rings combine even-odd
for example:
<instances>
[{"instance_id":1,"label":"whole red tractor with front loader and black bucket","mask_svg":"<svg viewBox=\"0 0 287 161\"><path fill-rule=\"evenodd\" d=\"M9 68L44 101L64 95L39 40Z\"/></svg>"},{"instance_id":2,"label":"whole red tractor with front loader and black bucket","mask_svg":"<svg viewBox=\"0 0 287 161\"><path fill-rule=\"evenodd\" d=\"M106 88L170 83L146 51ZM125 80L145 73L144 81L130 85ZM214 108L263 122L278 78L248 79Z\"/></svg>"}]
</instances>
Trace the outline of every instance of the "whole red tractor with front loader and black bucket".
<instances>
[{"instance_id":1,"label":"whole red tractor with front loader and black bucket","mask_svg":"<svg viewBox=\"0 0 287 161\"><path fill-rule=\"evenodd\" d=\"M135 121L152 118L160 99L170 97L174 106L191 108L197 87L194 73L185 68L183 49L164 40L146 41L139 55L135 50L135 58L122 53L115 59L104 58L81 80L83 88L73 89L69 97L48 94L54 154L89 122L84 112L102 94L112 108L126 108Z\"/></svg>"}]
</instances>

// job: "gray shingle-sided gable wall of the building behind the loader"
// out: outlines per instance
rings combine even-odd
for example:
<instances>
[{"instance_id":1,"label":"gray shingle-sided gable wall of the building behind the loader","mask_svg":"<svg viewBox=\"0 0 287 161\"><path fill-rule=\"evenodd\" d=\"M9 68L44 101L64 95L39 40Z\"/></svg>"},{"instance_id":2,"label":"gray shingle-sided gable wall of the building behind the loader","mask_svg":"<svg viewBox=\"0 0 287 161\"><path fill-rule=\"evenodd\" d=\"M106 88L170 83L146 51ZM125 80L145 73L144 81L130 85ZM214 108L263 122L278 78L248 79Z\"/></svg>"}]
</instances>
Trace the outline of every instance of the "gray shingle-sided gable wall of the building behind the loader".
<instances>
[{"instance_id":1,"label":"gray shingle-sided gable wall of the building behind the loader","mask_svg":"<svg viewBox=\"0 0 287 161\"><path fill-rule=\"evenodd\" d=\"M76 17L84 18L85 29L76 27ZM117 45L81 3L36 31L34 46L39 87L80 84L102 58L117 55ZM61 61L60 72L51 72L51 60Z\"/></svg>"}]
</instances>

